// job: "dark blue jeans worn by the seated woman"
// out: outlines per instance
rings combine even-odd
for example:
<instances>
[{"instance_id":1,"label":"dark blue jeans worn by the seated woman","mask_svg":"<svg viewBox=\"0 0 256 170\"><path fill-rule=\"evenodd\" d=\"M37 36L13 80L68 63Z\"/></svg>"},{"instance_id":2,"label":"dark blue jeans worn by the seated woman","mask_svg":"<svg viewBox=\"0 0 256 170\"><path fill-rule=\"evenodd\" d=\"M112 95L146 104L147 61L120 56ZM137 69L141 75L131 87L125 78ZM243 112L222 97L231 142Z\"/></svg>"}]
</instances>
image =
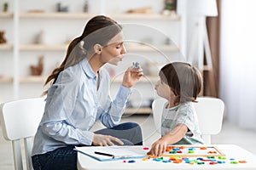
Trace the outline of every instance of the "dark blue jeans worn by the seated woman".
<instances>
[{"instance_id":1,"label":"dark blue jeans worn by the seated woman","mask_svg":"<svg viewBox=\"0 0 256 170\"><path fill-rule=\"evenodd\" d=\"M121 139L125 145L142 145L141 127L135 122L121 123L112 128L96 131L97 134L111 135ZM85 146L85 145L84 145ZM77 169L77 151L75 145L67 145L42 155L32 156L34 170L73 170Z\"/></svg>"}]
</instances>

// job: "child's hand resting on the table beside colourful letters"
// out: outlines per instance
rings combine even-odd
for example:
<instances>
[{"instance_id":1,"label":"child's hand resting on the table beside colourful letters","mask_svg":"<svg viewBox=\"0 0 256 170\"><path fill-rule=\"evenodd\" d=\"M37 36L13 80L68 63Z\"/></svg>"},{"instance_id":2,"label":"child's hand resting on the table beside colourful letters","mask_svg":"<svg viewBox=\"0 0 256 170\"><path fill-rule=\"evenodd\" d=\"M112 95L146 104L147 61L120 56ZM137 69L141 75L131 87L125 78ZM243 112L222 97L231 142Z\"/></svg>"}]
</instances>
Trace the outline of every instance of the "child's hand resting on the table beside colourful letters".
<instances>
[{"instance_id":1,"label":"child's hand resting on the table beside colourful letters","mask_svg":"<svg viewBox=\"0 0 256 170\"><path fill-rule=\"evenodd\" d=\"M152 144L151 150L148 151L148 155L162 156L165 153L167 142L165 139L160 138L154 144Z\"/></svg>"}]
</instances>

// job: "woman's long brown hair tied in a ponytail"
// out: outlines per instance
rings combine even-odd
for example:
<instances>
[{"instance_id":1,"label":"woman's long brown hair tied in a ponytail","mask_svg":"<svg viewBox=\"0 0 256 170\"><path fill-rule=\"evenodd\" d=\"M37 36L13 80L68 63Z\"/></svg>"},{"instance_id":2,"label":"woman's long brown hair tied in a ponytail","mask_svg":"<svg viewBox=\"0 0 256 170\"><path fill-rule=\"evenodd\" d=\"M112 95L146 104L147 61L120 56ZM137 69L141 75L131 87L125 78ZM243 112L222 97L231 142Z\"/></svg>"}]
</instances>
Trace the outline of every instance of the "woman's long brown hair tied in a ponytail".
<instances>
[{"instance_id":1,"label":"woman's long brown hair tied in a ponytail","mask_svg":"<svg viewBox=\"0 0 256 170\"><path fill-rule=\"evenodd\" d=\"M59 67L52 71L44 86L49 82L51 82L51 85L54 84L61 71L78 64L85 57L90 57L86 54L93 52L93 47L96 43L102 45L102 47L106 46L121 30L122 27L107 16L97 15L90 19L84 27L83 34L73 39L69 44L65 59ZM48 90L44 92L44 94L47 93Z\"/></svg>"}]
</instances>

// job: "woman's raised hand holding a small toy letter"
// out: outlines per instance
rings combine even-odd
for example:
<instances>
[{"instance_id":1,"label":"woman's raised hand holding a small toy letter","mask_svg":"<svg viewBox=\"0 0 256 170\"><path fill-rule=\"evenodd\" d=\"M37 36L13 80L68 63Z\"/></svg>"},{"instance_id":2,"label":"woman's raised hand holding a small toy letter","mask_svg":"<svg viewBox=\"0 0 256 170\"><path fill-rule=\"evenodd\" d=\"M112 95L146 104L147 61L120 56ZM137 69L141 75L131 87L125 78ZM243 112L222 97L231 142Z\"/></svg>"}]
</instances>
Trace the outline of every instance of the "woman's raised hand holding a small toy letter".
<instances>
[{"instance_id":1,"label":"woman's raised hand holding a small toy letter","mask_svg":"<svg viewBox=\"0 0 256 170\"><path fill-rule=\"evenodd\" d=\"M126 71L123 77L122 85L131 88L138 80L143 77L143 69L139 63L133 64Z\"/></svg>"}]
</instances>

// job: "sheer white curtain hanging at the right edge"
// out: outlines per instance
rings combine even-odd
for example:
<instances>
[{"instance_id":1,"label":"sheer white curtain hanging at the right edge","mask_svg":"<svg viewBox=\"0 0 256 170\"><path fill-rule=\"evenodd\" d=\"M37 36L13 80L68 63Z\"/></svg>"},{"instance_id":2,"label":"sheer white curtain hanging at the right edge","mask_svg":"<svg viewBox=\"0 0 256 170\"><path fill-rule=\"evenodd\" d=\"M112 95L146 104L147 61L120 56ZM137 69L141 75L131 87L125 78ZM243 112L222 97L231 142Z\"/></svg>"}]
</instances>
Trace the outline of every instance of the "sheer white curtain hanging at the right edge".
<instances>
[{"instance_id":1,"label":"sheer white curtain hanging at the right edge","mask_svg":"<svg viewBox=\"0 0 256 170\"><path fill-rule=\"evenodd\" d=\"M226 118L256 130L256 1L221 1L220 98Z\"/></svg>"}]
</instances>

